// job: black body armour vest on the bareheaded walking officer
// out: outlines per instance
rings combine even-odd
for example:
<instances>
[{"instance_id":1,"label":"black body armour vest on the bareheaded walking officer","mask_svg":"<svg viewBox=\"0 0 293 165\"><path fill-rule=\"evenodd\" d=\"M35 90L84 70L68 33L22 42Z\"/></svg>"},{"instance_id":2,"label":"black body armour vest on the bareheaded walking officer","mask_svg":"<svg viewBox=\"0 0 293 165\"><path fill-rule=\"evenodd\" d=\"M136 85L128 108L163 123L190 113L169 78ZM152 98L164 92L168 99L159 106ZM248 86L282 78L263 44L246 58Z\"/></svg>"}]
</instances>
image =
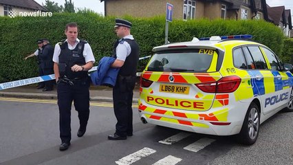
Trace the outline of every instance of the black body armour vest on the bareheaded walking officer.
<instances>
[{"instance_id":1,"label":"black body armour vest on the bareheaded walking officer","mask_svg":"<svg viewBox=\"0 0 293 165\"><path fill-rule=\"evenodd\" d=\"M85 78L87 77L87 71L80 71L80 72L72 72L71 67L73 65L85 65L85 58L83 56L83 49L85 47L86 41L80 40L80 42L76 45L74 50L68 49L68 43L65 41L60 45L61 52L59 55L59 64L65 64L65 72L60 72L59 74L61 78L63 76L67 76L69 79L75 78Z\"/></svg>"}]
</instances>

